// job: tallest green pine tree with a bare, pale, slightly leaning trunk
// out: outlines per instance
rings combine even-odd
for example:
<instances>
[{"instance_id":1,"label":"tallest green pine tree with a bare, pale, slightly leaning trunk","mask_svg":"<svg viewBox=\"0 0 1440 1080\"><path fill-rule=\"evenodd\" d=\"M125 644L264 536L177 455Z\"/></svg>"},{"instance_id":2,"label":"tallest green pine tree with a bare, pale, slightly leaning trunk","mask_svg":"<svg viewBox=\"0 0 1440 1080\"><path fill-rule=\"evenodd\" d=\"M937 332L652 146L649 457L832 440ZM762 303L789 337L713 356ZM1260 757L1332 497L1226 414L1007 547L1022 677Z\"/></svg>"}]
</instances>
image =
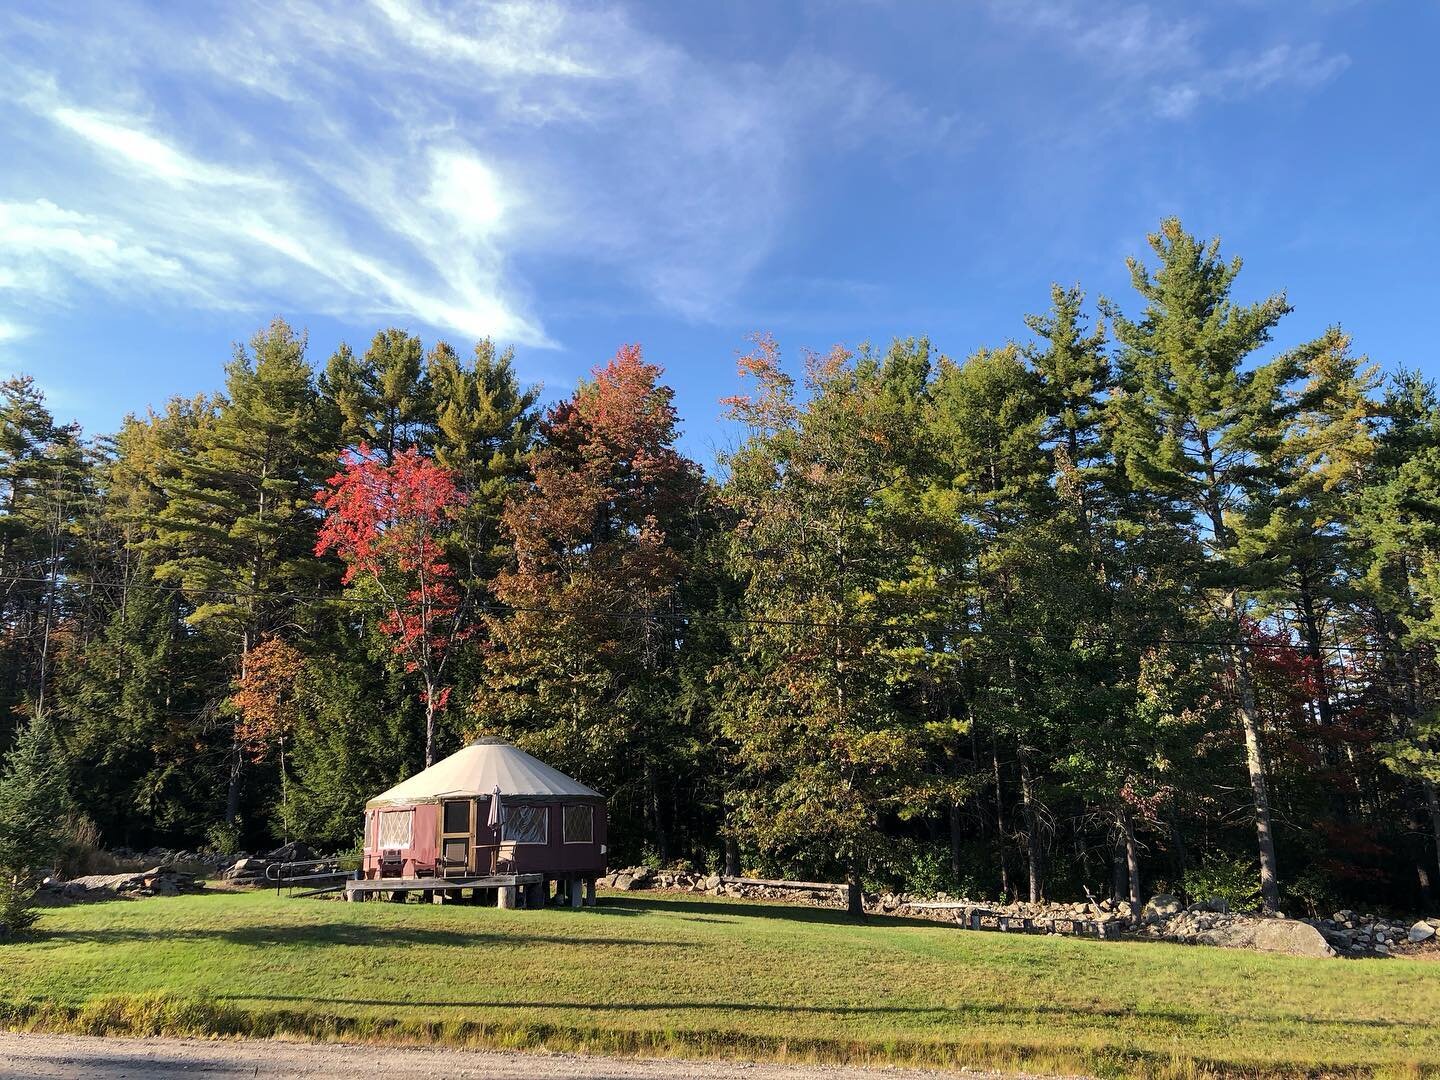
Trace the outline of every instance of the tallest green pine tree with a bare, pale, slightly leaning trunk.
<instances>
[{"instance_id":1,"label":"tallest green pine tree with a bare, pale, slightly leaning trunk","mask_svg":"<svg viewBox=\"0 0 1440 1080\"><path fill-rule=\"evenodd\" d=\"M1130 259L1130 281L1145 301L1140 320L1109 314L1120 341L1123 396L1116 452L1138 487L1164 492L1191 514L1210 552L1217 618L1230 641L1228 678L1244 734L1254 804L1260 884L1279 904L1274 822L1261 746L1261 717L1246 654L1247 605L1257 566L1274 553L1246 549L1250 516L1274 487L1274 452L1287 422L1290 356L1247 364L1290 311L1284 294L1250 305L1231 301L1240 259L1224 262L1220 240L1200 243L1168 219L1149 238L1152 274Z\"/></svg>"}]
</instances>

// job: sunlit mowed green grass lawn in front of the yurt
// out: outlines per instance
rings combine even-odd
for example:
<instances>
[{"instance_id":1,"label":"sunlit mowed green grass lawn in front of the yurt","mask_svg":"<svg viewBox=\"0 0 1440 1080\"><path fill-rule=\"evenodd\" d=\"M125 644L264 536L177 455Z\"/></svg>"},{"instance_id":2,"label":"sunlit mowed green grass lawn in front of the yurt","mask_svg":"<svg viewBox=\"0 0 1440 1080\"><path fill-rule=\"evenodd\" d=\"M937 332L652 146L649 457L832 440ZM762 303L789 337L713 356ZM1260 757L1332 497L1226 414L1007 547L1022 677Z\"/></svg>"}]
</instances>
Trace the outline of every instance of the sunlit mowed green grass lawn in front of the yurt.
<instances>
[{"instance_id":1,"label":"sunlit mowed green grass lawn in front of the yurt","mask_svg":"<svg viewBox=\"0 0 1440 1080\"><path fill-rule=\"evenodd\" d=\"M603 894L501 912L216 893L56 909L0 1024L1100 1076L1440 1076L1440 965Z\"/></svg>"}]
</instances>

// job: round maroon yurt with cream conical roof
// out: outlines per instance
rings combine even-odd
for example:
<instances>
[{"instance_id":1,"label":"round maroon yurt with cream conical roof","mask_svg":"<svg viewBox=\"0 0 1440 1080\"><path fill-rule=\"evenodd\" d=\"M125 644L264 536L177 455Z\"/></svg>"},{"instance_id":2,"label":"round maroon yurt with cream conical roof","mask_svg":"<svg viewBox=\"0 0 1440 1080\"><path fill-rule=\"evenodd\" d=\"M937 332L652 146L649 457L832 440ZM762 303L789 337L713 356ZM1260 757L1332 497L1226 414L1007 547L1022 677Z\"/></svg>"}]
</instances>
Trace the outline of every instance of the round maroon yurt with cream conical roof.
<instances>
[{"instance_id":1,"label":"round maroon yurt with cream conical roof","mask_svg":"<svg viewBox=\"0 0 1440 1080\"><path fill-rule=\"evenodd\" d=\"M364 816L366 880L605 874L605 796L503 739L376 795Z\"/></svg>"}]
</instances>

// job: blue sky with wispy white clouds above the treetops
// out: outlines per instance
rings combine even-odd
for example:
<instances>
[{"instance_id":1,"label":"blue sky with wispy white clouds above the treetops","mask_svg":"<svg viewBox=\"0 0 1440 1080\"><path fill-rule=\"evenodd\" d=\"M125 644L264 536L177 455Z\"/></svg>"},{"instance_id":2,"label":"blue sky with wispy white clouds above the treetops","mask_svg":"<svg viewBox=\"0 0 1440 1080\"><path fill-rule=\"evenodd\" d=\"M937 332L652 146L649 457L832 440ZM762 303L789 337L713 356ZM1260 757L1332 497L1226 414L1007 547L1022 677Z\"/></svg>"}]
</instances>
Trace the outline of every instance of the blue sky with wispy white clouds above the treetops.
<instances>
[{"instance_id":1,"label":"blue sky with wispy white clouds above the treetops","mask_svg":"<svg viewBox=\"0 0 1440 1080\"><path fill-rule=\"evenodd\" d=\"M88 431L271 315L492 336L564 393L641 341L687 446L736 350L1132 304L1171 213L1440 373L1433 0L53 4L0 13L0 373Z\"/></svg>"}]
</instances>

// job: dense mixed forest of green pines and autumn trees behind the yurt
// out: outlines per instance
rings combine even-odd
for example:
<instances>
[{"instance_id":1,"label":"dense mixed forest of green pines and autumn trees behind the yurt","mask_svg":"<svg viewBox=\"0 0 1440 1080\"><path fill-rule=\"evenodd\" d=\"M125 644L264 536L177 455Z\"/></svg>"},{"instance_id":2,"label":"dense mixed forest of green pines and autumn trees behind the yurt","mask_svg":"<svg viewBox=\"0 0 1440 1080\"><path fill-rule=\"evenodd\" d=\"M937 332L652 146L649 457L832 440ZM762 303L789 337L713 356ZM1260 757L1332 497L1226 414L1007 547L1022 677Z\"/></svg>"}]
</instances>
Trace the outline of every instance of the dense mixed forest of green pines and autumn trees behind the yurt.
<instances>
[{"instance_id":1,"label":"dense mixed forest of green pines and autumn trees behind the yurt","mask_svg":"<svg viewBox=\"0 0 1440 1080\"><path fill-rule=\"evenodd\" d=\"M0 752L137 850L351 848L498 734L613 865L1433 909L1434 359L1295 340L1174 219L1129 269L963 359L757 334L704 465L639 346L541 406L276 318L104 435L6 379Z\"/></svg>"}]
</instances>

